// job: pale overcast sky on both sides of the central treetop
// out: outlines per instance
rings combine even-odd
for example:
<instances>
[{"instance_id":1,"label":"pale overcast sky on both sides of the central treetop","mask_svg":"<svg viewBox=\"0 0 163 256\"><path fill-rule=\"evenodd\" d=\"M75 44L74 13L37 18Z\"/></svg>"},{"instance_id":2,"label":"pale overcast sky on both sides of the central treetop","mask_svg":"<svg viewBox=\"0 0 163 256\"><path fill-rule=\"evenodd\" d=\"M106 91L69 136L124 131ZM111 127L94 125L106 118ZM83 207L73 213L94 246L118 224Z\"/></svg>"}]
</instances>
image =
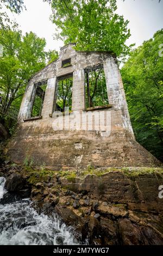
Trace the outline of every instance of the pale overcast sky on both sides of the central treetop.
<instances>
[{"instance_id":1,"label":"pale overcast sky on both sides of the central treetop","mask_svg":"<svg viewBox=\"0 0 163 256\"><path fill-rule=\"evenodd\" d=\"M42 0L24 0L24 3L27 11L24 10L20 15L10 14L10 17L15 18L23 33L32 31L45 38L46 50L59 51L59 47L64 44L53 39L55 26L49 20L52 13L49 4ZM127 44L136 43L139 46L143 41L152 38L158 29L163 28L163 0L160 3L159 0L117 0L117 7L117 13L129 20L131 36Z\"/></svg>"}]
</instances>

